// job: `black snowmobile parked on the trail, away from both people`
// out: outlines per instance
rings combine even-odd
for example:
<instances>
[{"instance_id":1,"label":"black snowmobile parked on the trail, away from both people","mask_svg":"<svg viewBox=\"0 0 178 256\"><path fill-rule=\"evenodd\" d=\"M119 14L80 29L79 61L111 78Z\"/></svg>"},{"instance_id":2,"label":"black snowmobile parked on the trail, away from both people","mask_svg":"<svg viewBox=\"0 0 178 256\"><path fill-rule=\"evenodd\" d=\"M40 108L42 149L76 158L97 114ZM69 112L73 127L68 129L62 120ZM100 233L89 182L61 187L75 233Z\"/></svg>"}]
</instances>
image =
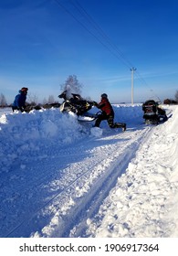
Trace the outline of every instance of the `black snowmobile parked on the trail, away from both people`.
<instances>
[{"instance_id":1,"label":"black snowmobile parked on the trail, away from both people","mask_svg":"<svg viewBox=\"0 0 178 256\"><path fill-rule=\"evenodd\" d=\"M153 100L145 101L142 104L144 123L158 124L167 121L166 112L159 107L158 102Z\"/></svg>"}]
</instances>

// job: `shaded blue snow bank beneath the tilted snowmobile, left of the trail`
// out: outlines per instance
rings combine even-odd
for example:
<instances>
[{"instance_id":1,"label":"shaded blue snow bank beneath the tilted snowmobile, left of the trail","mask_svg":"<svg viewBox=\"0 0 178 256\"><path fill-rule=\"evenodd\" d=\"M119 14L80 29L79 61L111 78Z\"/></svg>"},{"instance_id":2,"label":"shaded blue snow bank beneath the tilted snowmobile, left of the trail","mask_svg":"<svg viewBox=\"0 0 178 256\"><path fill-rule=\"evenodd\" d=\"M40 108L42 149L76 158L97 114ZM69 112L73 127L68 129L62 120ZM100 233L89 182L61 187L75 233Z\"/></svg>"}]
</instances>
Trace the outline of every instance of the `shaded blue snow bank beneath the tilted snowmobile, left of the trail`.
<instances>
[{"instance_id":1,"label":"shaded blue snow bank beneath the tilted snowmobile, left of the trail","mask_svg":"<svg viewBox=\"0 0 178 256\"><path fill-rule=\"evenodd\" d=\"M40 155L44 147L72 144L83 137L75 114L58 109L6 113L0 117L0 172L19 156Z\"/></svg>"}]
</instances>

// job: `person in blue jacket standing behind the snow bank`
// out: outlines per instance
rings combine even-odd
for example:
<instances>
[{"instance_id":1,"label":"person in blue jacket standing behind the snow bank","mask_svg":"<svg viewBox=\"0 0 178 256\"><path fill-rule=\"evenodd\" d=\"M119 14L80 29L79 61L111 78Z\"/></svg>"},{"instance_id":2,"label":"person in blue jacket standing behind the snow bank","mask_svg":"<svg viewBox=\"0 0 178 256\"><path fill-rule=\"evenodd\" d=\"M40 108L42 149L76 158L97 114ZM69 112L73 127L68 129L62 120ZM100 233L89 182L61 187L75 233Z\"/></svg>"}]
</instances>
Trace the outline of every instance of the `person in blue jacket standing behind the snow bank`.
<instances>
[{"instance_id":1,"label":"person in blue jacket standing behind the snow bank","mask_svg":"<svg viewBox=\"0 0 178 256\"><path fill-rule=\"evenodd\" d=\"M12 110L13 112L15 110L24 112L26 108L26 94L28 89L26 87L23 87L19 93L16 95L15 101L12 104Z\"/></svg>"}]
</instances>

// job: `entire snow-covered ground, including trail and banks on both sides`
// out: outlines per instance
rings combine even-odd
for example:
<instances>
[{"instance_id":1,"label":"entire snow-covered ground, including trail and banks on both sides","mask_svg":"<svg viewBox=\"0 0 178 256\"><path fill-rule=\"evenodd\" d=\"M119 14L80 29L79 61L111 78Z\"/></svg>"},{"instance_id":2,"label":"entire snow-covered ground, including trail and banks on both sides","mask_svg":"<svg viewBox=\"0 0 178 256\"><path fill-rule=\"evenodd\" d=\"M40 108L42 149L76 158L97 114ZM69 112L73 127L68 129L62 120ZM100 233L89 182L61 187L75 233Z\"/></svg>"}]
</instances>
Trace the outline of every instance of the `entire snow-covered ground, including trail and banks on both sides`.
<instances>
[{"instance_id":1,"label":"entire snow-covered ground, including trail and banks on both sides","mask_svg":"<svg viewBox=\"0 0 178 256\"><path fill-rule=\"evenodd\" d=\"M126 132L1 110L0 237L178 237L178 107L164 108L149 126L141 105L114 105Z\"/></svg>"}]
</instances>

